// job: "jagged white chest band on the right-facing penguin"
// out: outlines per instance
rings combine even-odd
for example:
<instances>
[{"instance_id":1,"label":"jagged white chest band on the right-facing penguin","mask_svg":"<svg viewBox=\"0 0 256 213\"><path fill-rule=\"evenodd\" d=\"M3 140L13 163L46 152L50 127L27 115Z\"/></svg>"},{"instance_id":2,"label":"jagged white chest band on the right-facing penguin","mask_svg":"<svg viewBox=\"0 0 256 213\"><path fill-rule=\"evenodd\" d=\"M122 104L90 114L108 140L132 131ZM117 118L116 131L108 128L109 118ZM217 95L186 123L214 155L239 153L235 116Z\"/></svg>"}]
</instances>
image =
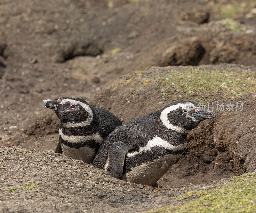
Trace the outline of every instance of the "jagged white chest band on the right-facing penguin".
<instances>
[{"instance_id":1,"label":"jagged white chest band on the right-facing penguin","mask_svg":"<svg viewBox=\"0 0 256 213\"><path fill-rule=\"evenodd\" d=\"M177 150L183 150L184 148L186 148L186 146L187 146L187 142L185 142L183 144L179 144L177 146L174 146L174 145L164 141L162 138L155 136L152 140L148 141L146 146L140 147L139 151L128 152L126 156L133 157L134 155L138 155L138 154L142 153L143 151L151 151L152 147L163 147L166 149L177 151Z\"/></svg>"}]
</instances>

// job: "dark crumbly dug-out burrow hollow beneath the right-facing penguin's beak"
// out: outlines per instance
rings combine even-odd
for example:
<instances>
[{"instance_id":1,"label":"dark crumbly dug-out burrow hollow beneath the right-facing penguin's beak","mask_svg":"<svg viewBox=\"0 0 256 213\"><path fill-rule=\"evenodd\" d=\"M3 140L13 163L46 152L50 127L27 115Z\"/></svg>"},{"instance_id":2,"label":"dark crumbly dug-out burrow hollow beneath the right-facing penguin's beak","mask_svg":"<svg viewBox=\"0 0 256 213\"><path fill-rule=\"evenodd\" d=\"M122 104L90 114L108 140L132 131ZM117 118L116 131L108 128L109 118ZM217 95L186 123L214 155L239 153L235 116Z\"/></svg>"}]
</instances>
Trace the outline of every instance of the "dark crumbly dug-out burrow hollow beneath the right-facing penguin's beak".
<instances>
[{"instance_id":1,"label":"dark crumbly dug-out burrow hollow beneath the right-facing penguin's beak","mask_svg":"<svg viewBox=\"0 0 256 213\"><path fill-rule=\"evenodd\" d=\"M219 120L204 122L188 134L188 146L180 159L157 182L159 186L181 187L216 181L236 175L233 149L215 138ZM217 127L215 127L217 124Z\"/></svg>"}]
</instances>

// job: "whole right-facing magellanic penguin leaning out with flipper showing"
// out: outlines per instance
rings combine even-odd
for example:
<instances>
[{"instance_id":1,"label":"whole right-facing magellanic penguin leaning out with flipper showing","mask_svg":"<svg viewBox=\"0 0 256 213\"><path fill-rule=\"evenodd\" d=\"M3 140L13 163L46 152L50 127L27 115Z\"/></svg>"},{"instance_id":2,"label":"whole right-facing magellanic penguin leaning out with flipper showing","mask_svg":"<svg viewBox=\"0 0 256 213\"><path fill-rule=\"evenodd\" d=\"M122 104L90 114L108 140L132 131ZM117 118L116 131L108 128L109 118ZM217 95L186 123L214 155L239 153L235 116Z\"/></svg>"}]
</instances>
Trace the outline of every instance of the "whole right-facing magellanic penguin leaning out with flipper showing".
<instances>
[{"instance_id":1,"label":"whole right-facing magellanic penguin leaning out with flipper showing","mask_svg":"<svg viewBox=\"0 0 256 213\"><path fill-rule=\"evenodd\" d=\"M188 132L216 117L194 102L178 101L117 127L100 146L93 165L113 177L152 186L187 146Z\"/></svg>"}]
</instances>

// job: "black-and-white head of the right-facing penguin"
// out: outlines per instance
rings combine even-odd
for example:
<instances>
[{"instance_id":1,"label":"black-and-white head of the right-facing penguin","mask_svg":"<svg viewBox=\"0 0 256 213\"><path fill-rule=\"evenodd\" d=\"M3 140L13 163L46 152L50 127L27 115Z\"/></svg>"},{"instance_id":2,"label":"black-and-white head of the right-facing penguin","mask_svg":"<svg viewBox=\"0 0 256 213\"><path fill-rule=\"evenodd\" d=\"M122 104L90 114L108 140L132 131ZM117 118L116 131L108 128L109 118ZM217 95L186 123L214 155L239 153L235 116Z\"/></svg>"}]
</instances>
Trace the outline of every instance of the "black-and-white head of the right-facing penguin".
<instances>
[{"instance_id":1,"label":"black-and-white head of the right-facing penguin","mask_svg":"<svg viewBox=\"0 0 256 213\"><path fill-rule=\"evenodd\" d=\"M190 130L205 119L215 118L212 110L201 110L198 103L191 101L176 101L165 106L160 115L164 126L181 133Z\"/></svg>"}]
</instances>

